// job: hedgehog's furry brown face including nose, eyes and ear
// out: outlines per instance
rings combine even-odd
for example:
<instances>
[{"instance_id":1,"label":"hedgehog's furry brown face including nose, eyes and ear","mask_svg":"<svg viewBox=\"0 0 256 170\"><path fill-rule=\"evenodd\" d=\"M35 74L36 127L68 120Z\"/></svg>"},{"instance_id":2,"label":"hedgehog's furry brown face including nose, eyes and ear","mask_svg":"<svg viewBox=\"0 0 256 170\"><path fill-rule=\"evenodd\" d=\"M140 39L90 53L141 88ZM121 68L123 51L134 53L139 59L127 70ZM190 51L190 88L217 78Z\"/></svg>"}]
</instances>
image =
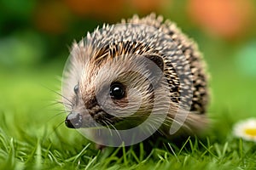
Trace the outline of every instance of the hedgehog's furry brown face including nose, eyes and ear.
<instances>
[{"instance_id":1,"label":"hedgehog's furry brown face including nose, eyes and ear","mask_svg":"<svg viewBox=\"0 0 256 170\"><path fill-rule=\"evenodd\" d=\"M152 111L163 69L159 55L124 55L100 63L90 60L81 68L68 98L73 105L67 127L134 127Z\"/></svg>"}]
</instances>

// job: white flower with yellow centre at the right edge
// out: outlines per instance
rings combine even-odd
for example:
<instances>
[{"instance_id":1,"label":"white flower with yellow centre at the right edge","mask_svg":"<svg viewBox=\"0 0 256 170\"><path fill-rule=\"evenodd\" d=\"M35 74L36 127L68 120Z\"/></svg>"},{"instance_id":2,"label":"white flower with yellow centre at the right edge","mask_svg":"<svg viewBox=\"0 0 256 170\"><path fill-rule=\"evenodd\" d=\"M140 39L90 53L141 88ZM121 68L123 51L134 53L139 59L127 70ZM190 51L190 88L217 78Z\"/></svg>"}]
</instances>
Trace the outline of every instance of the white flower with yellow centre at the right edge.
<instances>
[{"instance_id":1,"label":"white flower with yellow centre at the right edge","mask_svg":"<svg viewBox=\"0 0 256 170\"><path fill-rule=\"evenodd\" d=\"M233 127L233 134L238 138L256 142L256 118L237 122Z\"/></svg>"}]
</instances>

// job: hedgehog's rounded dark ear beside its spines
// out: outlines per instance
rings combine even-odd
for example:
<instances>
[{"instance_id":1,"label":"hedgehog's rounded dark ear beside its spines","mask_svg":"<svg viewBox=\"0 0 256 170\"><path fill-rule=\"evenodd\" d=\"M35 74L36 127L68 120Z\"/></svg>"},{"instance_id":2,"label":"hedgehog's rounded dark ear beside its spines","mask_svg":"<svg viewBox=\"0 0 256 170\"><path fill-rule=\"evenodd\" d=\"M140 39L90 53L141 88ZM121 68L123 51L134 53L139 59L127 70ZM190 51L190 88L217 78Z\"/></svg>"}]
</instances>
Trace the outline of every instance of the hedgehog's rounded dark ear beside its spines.
<instances>
[{"instance_id":1,"label":"hedgehog's rounded dark ear beside its spines","mask_svg":"<svg viewBox=\"0 0 256 170\"><path fill-rule=\"evenodd\" d=\"M146 61L146 68L151 73L152 82L158 83L163 77L164 60L159 54L145 54L143 57L150 59L149 62Z\"/></svg>"}]
</instances>

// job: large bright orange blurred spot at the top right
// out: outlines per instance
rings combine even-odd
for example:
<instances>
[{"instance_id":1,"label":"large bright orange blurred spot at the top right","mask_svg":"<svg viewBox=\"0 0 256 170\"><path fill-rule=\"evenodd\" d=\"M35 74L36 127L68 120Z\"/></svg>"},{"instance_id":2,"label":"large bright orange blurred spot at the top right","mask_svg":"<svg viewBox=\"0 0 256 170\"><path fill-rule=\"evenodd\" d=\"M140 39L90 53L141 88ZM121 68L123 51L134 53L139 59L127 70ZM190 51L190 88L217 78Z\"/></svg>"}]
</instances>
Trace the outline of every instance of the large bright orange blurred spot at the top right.
<instances>
[{"instance_id":1,"label":"large bright orange blurred spot at the top right","mask_svg":"<svg viewBox=\"0 0 256 170\"><path fill-rule=\"evenodd\" d=\"M189 0L189 17L215 35L234 38L253 22L251 0Z\"/></svg>"}]
</instances>

